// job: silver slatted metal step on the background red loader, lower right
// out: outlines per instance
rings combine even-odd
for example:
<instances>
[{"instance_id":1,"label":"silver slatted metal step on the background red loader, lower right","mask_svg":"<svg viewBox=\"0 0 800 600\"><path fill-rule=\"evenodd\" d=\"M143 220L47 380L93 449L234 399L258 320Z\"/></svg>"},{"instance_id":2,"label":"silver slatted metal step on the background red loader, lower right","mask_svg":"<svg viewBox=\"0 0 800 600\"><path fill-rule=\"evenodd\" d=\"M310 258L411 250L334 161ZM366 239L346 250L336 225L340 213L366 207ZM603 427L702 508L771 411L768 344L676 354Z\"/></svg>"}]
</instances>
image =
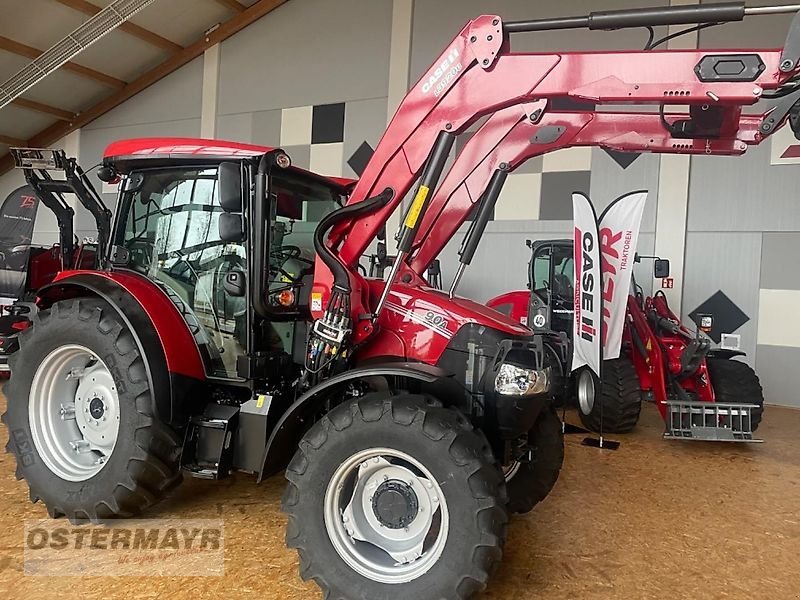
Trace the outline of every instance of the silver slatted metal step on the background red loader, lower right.
<instances>
[{"instance_id":1,"label":"silver slatted metal step on the background red loader, lower right","mask_svg":"<svg viewBox=\"0 0 800 600\"><path fill-rule=\"evenodd\" d=\"M670 440L763 442L753 437L752 411L756 404L667 402L666 431Z\"/></svg>"}]
</instances>

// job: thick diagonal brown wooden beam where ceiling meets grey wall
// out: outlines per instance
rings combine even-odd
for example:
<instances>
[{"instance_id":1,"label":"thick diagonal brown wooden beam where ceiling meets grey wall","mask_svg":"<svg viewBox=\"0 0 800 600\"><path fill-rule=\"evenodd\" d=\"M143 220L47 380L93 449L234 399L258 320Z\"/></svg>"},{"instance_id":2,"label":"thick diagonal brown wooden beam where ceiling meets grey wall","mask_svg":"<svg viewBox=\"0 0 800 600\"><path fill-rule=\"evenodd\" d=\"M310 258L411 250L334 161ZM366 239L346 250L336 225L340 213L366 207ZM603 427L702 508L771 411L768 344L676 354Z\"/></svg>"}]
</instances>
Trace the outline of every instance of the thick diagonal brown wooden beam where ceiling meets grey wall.
<instances>
[{"instance_id":1,"label":"thick diagonal brown wooden beam where ceiling meets grey wall","mask_svg":"<svg viewBox=\"0 0 800 600\"><path fill-rule=\"evenodd\" d=\"M61 0L58 0L59 2ZM205 34L191 46L187 46L177 54L169 57L163 63L148 71L135 81L129 83L125 89L116 92L91 108L76 115L72 121L60 122L51 125L47 129L34 135L27 144L31 147L46 148L57 142L68 133L80 127L88 125L95 119L103 116L108 111L116 108L126 100L129 100L142 90L147 89L157 81L160 81L170 73L180 69L185 64L191 62L208 50L211 46L219 44L230 36L238 33L248 25L252 25L261 17L284 4L287 0L259 0L251 7L245 9L243 13L236 15L225 21L222 25ZM0 157L0 175L14 168L14 159L10 154Z\"/></svg>"}]
</instances>

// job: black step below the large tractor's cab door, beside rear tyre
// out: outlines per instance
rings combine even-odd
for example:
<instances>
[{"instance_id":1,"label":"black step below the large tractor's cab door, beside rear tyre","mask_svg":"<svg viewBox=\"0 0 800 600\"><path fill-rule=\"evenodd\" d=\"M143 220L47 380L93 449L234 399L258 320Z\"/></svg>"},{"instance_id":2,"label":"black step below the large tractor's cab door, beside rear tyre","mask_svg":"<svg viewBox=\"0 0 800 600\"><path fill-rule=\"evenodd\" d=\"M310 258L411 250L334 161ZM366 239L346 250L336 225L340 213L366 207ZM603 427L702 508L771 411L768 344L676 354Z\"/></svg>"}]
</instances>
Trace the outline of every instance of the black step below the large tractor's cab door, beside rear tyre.
<instances>
[{"instance_id":1,"label":"black step below the large tractor's cab door, beside rear tyre","mask_svg":"<svg viewBox=\"0 0 800 600\"><path fill-rule=\"evenodd\" d=\"M233 465L233 432L239 407L210 404L202 415L189 419L183 439L181 469L200 479L223 479Z\"/></svg>"}]
</instances>

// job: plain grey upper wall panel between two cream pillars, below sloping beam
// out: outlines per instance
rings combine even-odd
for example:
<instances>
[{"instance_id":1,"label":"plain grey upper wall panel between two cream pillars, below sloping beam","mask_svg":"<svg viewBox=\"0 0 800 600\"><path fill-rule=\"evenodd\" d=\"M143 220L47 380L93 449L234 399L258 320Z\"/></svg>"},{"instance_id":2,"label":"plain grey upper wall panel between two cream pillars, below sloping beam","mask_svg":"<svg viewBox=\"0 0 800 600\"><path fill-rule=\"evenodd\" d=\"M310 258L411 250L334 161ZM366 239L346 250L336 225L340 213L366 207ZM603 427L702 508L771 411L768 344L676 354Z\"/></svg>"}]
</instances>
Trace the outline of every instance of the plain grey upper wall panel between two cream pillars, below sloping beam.
<instances>
[{"instance_id":1,"label":"plain grey upper wall panel between two cream pillars, below sloping beam","mask_svg":"<svg viewBox=\"0 0 800 600\"><path fill-rule=\"evenodd\" d=\"M385 97L391 0L287 2L222 43L218 114Z\"/></svg>"}]
</instances>

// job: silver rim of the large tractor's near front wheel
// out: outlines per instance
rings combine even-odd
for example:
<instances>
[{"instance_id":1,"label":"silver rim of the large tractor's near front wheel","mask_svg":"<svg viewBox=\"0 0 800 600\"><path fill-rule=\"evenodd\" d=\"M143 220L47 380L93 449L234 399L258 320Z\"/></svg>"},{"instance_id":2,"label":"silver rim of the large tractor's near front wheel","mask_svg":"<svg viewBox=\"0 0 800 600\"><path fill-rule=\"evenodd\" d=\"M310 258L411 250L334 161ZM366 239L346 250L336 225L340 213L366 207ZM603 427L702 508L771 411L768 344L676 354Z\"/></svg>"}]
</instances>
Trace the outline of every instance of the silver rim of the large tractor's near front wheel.
<instances>
[{"instance_id":1,"label":"silver rim of the large tractor's near front wheel","mask_svg":"<svg viewBox=\"0 0 800 600\"><path fill-rule=\"evenodd\" d=\"M387 486L416 502L417 512L405 526L384 524L375 509L376 496L387 493ZM441 557L450 527L436 478L418 460L391 448L362 450L336 469L325 492L324 517L342 560L360 575L388 584L427 573Z\"/></svg>"}]
</instances>

